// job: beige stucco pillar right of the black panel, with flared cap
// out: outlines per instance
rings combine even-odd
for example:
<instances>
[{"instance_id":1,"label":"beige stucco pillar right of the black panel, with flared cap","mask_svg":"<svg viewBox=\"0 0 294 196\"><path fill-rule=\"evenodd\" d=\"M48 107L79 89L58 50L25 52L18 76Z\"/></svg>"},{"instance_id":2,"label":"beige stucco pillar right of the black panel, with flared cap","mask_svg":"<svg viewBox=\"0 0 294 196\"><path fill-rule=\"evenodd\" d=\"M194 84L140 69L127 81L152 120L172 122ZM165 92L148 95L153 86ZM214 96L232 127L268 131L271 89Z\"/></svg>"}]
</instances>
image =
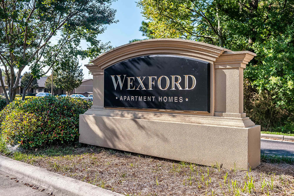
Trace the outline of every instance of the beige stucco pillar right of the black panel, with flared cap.
<instances>
[{"instance_id":1,"label":"beige stucco pillar right of the black panel, with flared cap","mask_svg":"<svg viewBox=\"0 0 294 196\"><path fill-rule=\"evenodd\" d=\"M227 52L214 63L216 80L215 114L226 117L245 117L243 113L243 70L255 56L249 51Z\"/></svg>"}]
</instances>

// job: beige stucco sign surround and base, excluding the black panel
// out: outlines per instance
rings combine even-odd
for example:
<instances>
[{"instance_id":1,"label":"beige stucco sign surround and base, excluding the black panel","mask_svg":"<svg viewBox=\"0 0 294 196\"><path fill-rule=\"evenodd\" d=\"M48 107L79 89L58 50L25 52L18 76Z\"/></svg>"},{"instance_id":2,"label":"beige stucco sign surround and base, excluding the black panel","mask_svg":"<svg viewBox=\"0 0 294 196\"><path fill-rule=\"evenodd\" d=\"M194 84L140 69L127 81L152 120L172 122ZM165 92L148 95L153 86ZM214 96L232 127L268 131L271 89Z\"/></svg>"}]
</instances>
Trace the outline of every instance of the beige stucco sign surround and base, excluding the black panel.
<instances>
[{"instance_id":1,"label":"beige stucco sign surround and base, excluding the black panel","mask_svg":"<svg viewBox=\"0 0 294 196\"><path fill-rule=\"evenodd\" d=\"M103 107L103 69L154 54L211 63L211 112ZM260 163L260 126L243 113L243 69L255 56L206 43L153 39L113 49L86 65L93 74L93 106L80 115L81 143L183 160L248 169Z\"/></svg>"}]
</instances>

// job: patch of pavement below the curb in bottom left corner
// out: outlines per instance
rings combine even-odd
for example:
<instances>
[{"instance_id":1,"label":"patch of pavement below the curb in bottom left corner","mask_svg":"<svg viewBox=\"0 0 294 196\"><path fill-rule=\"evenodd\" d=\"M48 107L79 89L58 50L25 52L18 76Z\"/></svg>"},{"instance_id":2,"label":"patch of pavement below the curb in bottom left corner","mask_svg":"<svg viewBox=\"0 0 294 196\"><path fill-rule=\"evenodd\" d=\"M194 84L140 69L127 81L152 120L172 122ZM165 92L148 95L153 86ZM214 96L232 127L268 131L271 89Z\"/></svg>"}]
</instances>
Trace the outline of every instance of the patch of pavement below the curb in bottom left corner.
<instances>
[{"instance_id":1,"label":"patch of pavement below the curb in bottom left corner","mask_svg":"<svg viewBox=\"0 0 294 196\"><path fill-rule=\"evenodd\" d=\"M53 195L50 190L46 190L23 181L15 175L10 175L0 170L0 195L19 196L19 195L36 195L36 196L48 196ZM41 191L42 190L42 191Z\"/></svg>"}]
</instances>

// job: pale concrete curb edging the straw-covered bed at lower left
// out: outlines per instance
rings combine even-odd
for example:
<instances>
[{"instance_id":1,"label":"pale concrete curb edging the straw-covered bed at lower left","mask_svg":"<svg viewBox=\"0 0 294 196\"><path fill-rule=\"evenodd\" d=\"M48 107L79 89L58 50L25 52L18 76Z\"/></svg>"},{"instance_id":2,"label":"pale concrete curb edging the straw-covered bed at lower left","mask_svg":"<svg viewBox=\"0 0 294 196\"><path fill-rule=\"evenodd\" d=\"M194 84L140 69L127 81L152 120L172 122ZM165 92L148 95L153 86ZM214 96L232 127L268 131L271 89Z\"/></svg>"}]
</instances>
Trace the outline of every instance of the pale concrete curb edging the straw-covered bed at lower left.
<instances>
[{"instance_id":1,"label":"pale concrete curb edging the straw-covered bed at lower left","mask_svg":"<svg viewBox=\"0 0 294 196\"><path fill-rule=\"evenodd\" d=\"M70 177L50 172L27 163L22 163L0 155L0 170L23 177L42 187L54 189L54 195L101 195L120 196L121 194L111 192L86 182L75 180Z\"/></svg>"}]
</instances>

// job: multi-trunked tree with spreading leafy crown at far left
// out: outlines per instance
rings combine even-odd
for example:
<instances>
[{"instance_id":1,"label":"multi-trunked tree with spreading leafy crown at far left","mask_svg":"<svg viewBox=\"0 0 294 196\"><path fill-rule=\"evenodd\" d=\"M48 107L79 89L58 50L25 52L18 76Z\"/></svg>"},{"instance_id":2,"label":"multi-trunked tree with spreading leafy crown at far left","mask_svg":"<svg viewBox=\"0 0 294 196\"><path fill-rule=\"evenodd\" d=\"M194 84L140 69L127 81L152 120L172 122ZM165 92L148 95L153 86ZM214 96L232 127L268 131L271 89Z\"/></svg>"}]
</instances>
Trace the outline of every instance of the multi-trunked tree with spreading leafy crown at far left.
<instances>
[{"instance_id":1,"label":"multi-trunked tree with spreading leafy crown at far left","mask_svg":"<svg viewBox=\"0 0 294 196\"><path fill-rule=\"evenodd\" d=\"M68 50L67 55L82 59L96 57L103 51L107 44L100 43L96 37L103 33L106 24L116 22L116 11L109 8L111 2L113 0L1 1L0 65L11 81L8 95L4 91L6 102L14 100L25 67L29 67L31 77L24 94L34 78L46 75L63 58L60 52L64 48ZM89 43L88 48L79 47L81 40ZM2 78L0 81L4 88Z\"/></svg>"}]
</instances>

